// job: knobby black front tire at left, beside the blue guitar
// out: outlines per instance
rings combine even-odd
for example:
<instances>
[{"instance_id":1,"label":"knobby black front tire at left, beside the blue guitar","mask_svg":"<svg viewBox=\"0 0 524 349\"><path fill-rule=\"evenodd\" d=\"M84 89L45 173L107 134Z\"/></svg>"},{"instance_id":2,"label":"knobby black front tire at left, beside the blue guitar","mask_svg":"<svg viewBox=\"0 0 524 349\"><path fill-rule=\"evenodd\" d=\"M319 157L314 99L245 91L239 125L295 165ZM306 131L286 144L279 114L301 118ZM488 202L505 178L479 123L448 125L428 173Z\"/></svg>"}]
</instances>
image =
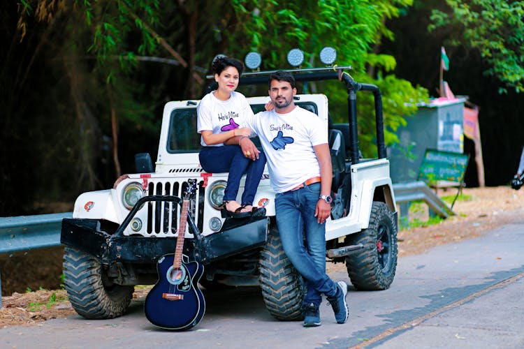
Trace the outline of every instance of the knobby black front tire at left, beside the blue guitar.
<instances>
[{"instance_id":1,"label":"knobby black front tire at left, beside the blue guitar","mask_svg":"<svg viewBox=\"0 0 524 349\"><path fill-rule=\"evenodd\" d=\"M99 260L76 248L64 249L64 276L69 302L87 319L117 318L133 298L133 286L111 283Z\"/></svg>"}]
</instances>

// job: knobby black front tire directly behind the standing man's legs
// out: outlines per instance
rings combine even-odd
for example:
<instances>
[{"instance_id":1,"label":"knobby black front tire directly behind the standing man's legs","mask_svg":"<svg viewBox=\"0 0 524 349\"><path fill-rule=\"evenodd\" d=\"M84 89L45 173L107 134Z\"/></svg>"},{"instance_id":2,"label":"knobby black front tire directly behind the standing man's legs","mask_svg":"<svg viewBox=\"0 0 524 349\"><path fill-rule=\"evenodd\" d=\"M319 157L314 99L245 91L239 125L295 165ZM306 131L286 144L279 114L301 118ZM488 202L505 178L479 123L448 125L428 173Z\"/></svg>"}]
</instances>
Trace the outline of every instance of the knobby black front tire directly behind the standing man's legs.
<instances>
[{"instance_id":1,"label":"knobby black front tire directly behind the standing man's legs","mask_svg":"<svg viewBox=\"0 0 524 349\"><path fill-rule=\"evenodd\" d=\"M272 229L260 258L260 285L265 307L277 320L303 320L305 283L284 253L278 230Z\"/></svg>"}]
</instances>

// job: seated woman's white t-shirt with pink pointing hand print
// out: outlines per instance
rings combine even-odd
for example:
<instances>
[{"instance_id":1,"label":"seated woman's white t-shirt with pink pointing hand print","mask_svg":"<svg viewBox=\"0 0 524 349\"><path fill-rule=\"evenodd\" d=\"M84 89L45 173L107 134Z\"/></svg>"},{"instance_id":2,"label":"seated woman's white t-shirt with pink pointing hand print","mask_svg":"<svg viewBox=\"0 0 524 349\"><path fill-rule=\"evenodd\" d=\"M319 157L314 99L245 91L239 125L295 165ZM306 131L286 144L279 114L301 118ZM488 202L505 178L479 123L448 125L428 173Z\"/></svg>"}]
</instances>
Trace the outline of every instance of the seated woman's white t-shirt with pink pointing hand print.
<instances>
[{"instance_id":1,"label":"seated woman's white t-shirt with pink pointing hand print","mask_svg":"<svg viewBox=\"0 0 524 349\"><path fill-rule=\"evenodd\" d=\"M214 96L213 92L206 94L196 106L198 115L196 132L212 131L212 133L222 133L231 131L235 128L243 127L245 119L253 116L253 110L243 94L233 91L227 101L220 101ZM203 147L224 145L224 143L205 144L202 137L200 143Z\"/></svg>"}]
</instances>

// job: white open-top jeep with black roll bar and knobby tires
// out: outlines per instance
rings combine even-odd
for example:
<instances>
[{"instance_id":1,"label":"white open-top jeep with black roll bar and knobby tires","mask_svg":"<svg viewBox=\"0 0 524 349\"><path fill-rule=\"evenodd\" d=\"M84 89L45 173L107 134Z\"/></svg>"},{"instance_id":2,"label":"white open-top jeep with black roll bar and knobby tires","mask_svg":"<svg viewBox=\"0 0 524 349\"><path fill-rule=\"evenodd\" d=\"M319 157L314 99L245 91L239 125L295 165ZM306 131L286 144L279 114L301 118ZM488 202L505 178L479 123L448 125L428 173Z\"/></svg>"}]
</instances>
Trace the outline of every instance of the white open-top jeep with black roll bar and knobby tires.
<instances>
[{"instance_id":1,"label":"white open-top jeep with black roll bar and knobby tires","mask_svg":"<svg viewBox=\"0 0 524 349\"><path fill-rule=\"evenodd\" d=\"M384 290L397 265L397 214L384 145L381 95L359 84L344 68L290 70L297 82L340 80L348 91L348 123L332 124L323 94L296 96L296 105L315 112L329 135L333 163L333 207L326 222L328 260L345 262L357 290ZM270 72L269 72L270 73ZM246 73L241 84L263 83L268 73ZM359 156L356 92L374 94L378 158ZM268 96L248 98L254 112ZM305 287L286 258L275 224L275 193L266 170L254 205L265 217L221 218L227 173L206 173L199 161L196 133L198 101L166 103L155 168L148 154L137 154L136 174L113 188L83 193L73 218L62 223L64 285L75 311L85 318L114 318L125 313L135 285L157 280L157 262L174 253L180 222L180 198L189 179L197 190L189 205L184 254L205 267L201 285L260 285L265 304L279 320L302 315ZM239 198L243 182L240 184Z\"/></svg>"}]
</instances>

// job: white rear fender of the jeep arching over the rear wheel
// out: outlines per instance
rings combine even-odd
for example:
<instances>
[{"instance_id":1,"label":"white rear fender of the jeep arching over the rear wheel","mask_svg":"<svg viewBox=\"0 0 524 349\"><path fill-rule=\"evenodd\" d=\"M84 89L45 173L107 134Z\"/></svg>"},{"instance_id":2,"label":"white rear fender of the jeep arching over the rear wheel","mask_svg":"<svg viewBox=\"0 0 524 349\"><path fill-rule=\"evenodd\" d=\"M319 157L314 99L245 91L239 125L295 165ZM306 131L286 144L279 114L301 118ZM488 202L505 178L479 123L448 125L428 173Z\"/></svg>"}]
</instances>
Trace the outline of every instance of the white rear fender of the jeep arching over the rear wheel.
<instances>
[{"instance_id":1,"label":"white rear fender of the jeep arching over the rear wheel","mask_svg":"<svg viewBox=\"0 0 524 349\"><path fill-rule=\"evenodd\" d=\"M381 193L378 191L381 191ZM373 201L385 202L391 211L396 211L391 179L383 178L374 181L364 181L362 186L360 211L358 212L358 221L361 222L361 229L366 229L369 226Z\"/></svg>"}]
</instances>

